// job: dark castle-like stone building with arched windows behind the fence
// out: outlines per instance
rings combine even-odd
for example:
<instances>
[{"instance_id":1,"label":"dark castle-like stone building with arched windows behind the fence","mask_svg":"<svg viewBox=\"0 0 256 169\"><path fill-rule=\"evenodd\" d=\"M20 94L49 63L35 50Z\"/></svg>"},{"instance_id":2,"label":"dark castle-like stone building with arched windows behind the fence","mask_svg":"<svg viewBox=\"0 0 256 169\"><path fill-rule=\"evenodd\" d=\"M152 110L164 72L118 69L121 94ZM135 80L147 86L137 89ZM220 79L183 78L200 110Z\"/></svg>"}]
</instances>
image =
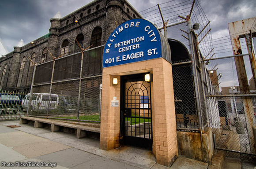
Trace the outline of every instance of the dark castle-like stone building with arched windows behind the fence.
<instances>
[{"instance_id":1,"label":"dark castle-like stone building with arched windows behind the fence","mask_svg":"<svg viewBox=\"0 0 256 169\"><path fill-rule=\"evenodd\" d=\"M14 51L0 58L0 89L29 92L34 70L32 62L46 62L48 67L53 60L51 55L55 58L74 56L61 59L65 67L61 64L55 67L62 73L56 73L54 79L70 78L72 73L79 72L80 67L74 65L81 63L78 59L81 49L75 38L84 49L104 45L117 25L132 18L142 17L126 0L94 0L63 18L57 13L50 18L48 34L29 44L15 46ZM84 59L86 74L102 73L102 52ZM50 72L37 69L35 81L49 81Z\"/></svg>"}]
</instances>

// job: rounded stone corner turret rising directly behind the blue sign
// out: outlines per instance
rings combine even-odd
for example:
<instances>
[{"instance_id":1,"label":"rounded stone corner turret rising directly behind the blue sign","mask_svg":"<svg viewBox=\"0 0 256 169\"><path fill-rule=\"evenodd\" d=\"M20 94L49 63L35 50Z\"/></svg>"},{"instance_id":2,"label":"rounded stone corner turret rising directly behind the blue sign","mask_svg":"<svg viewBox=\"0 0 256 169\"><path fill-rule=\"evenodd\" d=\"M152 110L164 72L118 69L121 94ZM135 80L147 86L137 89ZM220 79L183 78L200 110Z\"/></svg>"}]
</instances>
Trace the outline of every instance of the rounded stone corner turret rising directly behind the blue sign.
<instances>
[{"instance_id":1,"label":"rounded stone corner turret rising directly behind the blue sign","mask_svg":"<svg viewBox=\"0 0 256 169\"><path fill-rule=\"evenodd\" d=\"M123 22L123 8L124 0L106 0L106 37Z\"/></svg>"}]
</instances>

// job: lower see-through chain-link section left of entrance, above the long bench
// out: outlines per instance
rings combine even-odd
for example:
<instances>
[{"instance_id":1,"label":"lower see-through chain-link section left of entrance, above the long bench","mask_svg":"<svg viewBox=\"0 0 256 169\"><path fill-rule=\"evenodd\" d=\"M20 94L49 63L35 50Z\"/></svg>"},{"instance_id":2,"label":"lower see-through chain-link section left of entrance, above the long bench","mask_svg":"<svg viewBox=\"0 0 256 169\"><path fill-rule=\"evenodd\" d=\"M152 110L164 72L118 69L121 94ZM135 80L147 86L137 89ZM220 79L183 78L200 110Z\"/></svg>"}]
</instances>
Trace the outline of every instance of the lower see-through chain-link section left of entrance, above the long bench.
<instances>
[{"instance_id":1,"label":"lower see-through chain-link section left of entrance, above the long bench","mask_svg":"<svg viewBox=\"0 0 256 169\"><path fill-rule=\"evenodd\" d=\"M31 100L28 115L68 121L100 122L101 83L102 75L83 77L79 102L79 79L54 83L50 98L50 84L34 85L32 96L29 97L29 94L24 100L27 104L29 99Z\"/></svg>"}]
</instances>

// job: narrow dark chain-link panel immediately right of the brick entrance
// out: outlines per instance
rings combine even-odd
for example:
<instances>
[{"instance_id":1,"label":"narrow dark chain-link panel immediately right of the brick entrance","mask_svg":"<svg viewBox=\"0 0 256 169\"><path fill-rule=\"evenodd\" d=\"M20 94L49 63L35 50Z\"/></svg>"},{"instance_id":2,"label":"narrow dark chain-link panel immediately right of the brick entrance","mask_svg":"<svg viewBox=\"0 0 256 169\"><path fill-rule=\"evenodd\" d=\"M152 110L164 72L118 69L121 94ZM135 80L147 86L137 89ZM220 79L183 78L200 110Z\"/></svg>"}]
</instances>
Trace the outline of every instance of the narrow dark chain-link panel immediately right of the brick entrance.
<instances>
[{"instance_id":1,"label":"narrow dark chain-link panel immediately right of the brick entrance","mask_svg":"<svg viewBox=\"0 0 256 169\"><path fill-rule=\"evenodd\" d=\"M177 128L199 129L192 65L190 63L172 68Z\"/></svg>"}]
</instances>

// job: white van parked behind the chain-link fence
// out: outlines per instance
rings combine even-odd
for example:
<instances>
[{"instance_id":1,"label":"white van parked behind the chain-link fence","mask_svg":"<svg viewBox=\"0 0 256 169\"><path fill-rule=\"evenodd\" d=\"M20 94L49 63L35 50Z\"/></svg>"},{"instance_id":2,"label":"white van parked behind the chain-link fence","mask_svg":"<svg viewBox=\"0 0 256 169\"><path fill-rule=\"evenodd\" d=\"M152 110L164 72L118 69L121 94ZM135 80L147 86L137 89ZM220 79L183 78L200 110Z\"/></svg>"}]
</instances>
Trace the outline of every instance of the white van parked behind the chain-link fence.
<instances>
[{"instance_id":1,"label":"white van parked behind the chain-link fence","mask_svg":"<svg viewBox=\"0 0 256 169\"><path fill-rule=\"evenodd\" d=\"M47 110L49 104L49 93L33 93L30 98L30 93L26 94L22 100L23 110L28 108L29 99L31 100L31 110ZM57 109L59 106L59 96L51 94L49 110Z\"/></svg>"}]
</instances>

